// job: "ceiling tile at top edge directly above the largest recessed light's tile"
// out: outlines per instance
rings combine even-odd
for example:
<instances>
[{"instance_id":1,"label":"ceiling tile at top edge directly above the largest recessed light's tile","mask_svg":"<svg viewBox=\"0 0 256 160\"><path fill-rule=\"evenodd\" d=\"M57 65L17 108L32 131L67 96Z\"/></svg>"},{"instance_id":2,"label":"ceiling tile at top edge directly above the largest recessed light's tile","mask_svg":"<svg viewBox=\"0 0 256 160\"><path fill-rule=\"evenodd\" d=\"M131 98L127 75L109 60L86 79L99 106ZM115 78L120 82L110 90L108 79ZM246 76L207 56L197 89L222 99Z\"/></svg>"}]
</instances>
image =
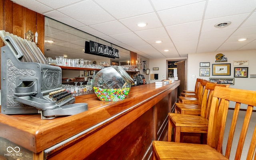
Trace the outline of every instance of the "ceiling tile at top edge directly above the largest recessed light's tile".
<instances>
[{"instance_id":1,"label":"ceiling tile at top edge directly above the largest recessed light's tile","mask_svg":"<svg viewBox=\"0 0 256 160\"><path fill-rule=\"evenodd\" d=\"M148 0L94 0L116 19L154 12Z\"/></svg>"}]
</instances>

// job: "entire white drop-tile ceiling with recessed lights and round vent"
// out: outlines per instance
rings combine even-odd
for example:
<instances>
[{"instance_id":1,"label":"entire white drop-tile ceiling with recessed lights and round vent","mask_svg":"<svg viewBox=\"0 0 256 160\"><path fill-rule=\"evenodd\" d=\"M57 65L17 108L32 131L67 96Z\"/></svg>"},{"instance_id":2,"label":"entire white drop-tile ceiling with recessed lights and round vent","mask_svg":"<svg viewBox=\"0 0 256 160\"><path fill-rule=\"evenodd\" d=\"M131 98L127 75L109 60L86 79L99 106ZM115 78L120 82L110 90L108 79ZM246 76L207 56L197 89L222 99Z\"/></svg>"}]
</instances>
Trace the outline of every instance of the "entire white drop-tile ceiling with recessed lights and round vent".
<instances>
[{"instance_id":1,"label":"entire white drop-tile ceiling with recessed lights and round vent","mask_svg":"<svg viewBox=\"0 0 256 160\"><path fill-rule=\"evenodd\" d=\"M149 59L256 49L256 0L13 1Z\"/></svg>"}]
</instances>

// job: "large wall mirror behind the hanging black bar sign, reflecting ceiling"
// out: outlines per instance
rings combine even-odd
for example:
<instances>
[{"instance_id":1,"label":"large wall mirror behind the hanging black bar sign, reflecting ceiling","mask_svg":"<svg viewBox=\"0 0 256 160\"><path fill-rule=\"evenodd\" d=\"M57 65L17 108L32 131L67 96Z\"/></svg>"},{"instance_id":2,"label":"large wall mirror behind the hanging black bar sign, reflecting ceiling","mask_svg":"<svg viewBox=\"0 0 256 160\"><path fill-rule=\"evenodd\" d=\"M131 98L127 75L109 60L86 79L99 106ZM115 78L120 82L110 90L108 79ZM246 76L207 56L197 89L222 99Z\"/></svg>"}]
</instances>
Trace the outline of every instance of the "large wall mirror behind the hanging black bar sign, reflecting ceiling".
<instances>
[{"instance_id":1,"label":"large wall mirror behind the hanging black bar sign, reflecting ceiling","mask_svg":"<svg viewBox=\"0 0 256 160\"><path fill-rule=\"evenodd\" d=\"M44 40L44 55L46 57L52 57L53 59L58 56L66 55L68 59L91 60L92 62L96 61L97 64L100 62L108 62L111 64L110 62L114 60L118 61L120 65L122 62L130 61L130 51L48 17L45 17ZM49 41L53 41L53 43L49 43ZM85 41L94 41L118 49L120 58L111 59L86 54L84 53Z\"/></svg>"}]
</instances>

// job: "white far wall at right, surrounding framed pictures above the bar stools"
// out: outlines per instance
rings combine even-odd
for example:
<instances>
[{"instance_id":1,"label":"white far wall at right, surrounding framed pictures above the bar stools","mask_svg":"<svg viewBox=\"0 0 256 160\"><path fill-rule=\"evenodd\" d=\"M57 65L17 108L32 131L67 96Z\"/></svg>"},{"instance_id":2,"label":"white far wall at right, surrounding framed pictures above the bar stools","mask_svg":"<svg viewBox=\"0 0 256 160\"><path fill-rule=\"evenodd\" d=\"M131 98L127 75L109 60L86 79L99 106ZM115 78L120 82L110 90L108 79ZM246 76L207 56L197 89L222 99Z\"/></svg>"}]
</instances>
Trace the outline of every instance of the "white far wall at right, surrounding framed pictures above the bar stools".
<instances>
[{"instance_id":1,"label":"white far wall at right, surrounding framed pictures above the bar stools","mask_svg":"<svg viewBox=\"0 0 256 160\"><path fill-rule=\"evenodd\" d=\"M222 53L228 59L228 62L215 62L215 56ZM248 78L234 78L234 60L249 60ZM210 62L210 76L199 76L200 62ZM230 76L212 76L212 64L230 63ZM256 78L250 78L250 74L256 74L256 50L245 51L224 51L214 53L197 53L188 54L188 90L194 90L196 78L209 80L209 78L234 78L234 85L230 88L238 88L244 90L256 90ZM195 78L192 78L195 75Z\"/></svg>"}]
</instances>

